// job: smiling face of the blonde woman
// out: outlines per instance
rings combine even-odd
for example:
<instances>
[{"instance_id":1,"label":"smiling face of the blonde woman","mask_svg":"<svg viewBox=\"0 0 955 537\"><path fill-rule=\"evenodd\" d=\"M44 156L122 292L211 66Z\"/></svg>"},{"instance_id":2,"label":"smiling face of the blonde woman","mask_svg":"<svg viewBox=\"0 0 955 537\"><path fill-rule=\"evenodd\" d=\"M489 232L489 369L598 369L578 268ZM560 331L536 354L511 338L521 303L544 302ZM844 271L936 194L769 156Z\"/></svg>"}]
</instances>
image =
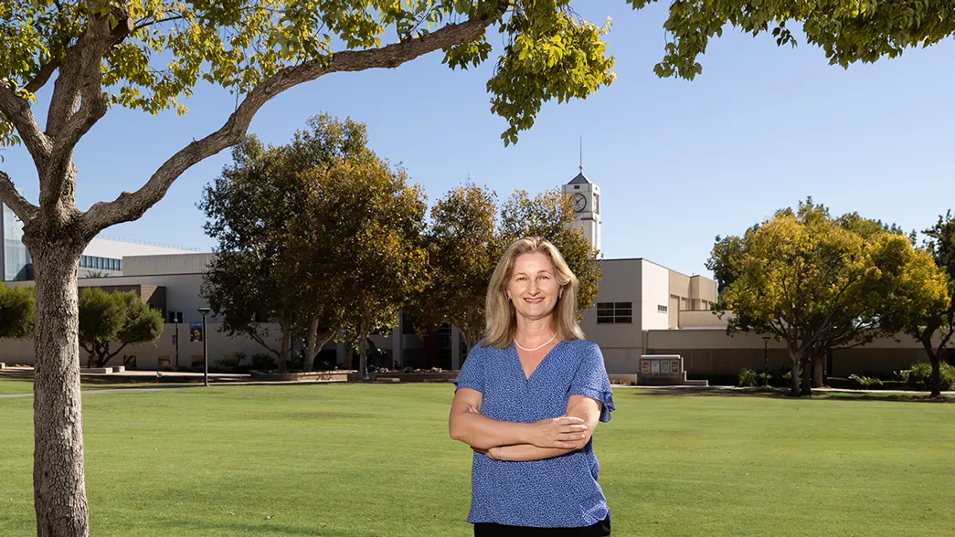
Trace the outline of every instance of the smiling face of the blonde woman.
<instances>
[{"instance_id":1,"label":"smiling face of the blonde woman","mask_svg":"<svg viewBox=\"0 0 955 537\"><path fill-rule=\"evenodd\" d=\"M543 319L554 312L561 284L554 263L541 253L521 254L507 282L507 296L517 314L527 320Z\"/></svg>"}]
</instances>

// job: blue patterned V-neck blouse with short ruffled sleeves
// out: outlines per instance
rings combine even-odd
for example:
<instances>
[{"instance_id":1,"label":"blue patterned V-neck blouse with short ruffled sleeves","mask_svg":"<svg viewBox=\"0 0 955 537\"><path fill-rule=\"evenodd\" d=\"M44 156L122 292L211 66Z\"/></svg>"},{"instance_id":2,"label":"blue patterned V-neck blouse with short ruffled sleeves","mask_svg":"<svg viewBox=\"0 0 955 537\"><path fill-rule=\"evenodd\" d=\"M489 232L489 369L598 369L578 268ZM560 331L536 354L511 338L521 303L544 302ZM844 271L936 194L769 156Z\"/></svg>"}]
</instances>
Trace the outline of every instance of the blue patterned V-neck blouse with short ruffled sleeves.
<instances>
[{"instance_id":1,"label":"blue patterned V-neck blouse with short ruffled sleeves","mask_svg":"<svg viewBox=\"0 0 955 537\"><path fill-rule=\"evenodd\" d=\"M505 422L533 423L564 415L571 395L603 403L600 421L614 409L604 355L592 341L561 341L524 376L512 343L505 349L478 343L455 381L483 394L480 413ZM585 527L609 513L597 484L600 465L593 438L583 449L543 461L495 461L475 451L469 523Z\"/></svg>"}]
</instances>

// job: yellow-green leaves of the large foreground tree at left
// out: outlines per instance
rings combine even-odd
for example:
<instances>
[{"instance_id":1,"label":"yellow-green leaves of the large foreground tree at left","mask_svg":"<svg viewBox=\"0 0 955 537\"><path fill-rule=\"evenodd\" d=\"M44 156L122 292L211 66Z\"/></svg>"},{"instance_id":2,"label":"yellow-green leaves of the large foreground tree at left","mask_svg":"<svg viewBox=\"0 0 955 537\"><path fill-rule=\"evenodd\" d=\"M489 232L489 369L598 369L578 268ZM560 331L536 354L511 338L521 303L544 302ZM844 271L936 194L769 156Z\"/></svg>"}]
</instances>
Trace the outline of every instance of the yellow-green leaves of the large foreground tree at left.
<instances>
[{"instance_id":1,"label":"yellow-green leaves of the large foreground tree at left","mask_svg":"<svg viewBox=\"0 0 955 537\"><path fill-rule=\"evenodd\" d=\"M106 17L112 28L126 16L124 7L132 31L103 59L103 85L111 105L149 114L185 114L183 101L201 81L247 95L286 67L328 65L339 52L380 48L390 34L400 42L422 39L469 19L508 36L487 84L492 111L508 122L505 144L533 125L543 102L584 98L613 80L603 41L609 22L587 23L566 0L521 0L507 18L502 4L472 0L110 0L90 12L85 2L5 3L0 50L8 53L0 57L0 80L27 88L44 70L62 67L90 17ZM490 56L485 34L464 35L443 48L452 69ZM14 143L10 134L0 117L0 144Z\"/></svg>"}]
</instances>

